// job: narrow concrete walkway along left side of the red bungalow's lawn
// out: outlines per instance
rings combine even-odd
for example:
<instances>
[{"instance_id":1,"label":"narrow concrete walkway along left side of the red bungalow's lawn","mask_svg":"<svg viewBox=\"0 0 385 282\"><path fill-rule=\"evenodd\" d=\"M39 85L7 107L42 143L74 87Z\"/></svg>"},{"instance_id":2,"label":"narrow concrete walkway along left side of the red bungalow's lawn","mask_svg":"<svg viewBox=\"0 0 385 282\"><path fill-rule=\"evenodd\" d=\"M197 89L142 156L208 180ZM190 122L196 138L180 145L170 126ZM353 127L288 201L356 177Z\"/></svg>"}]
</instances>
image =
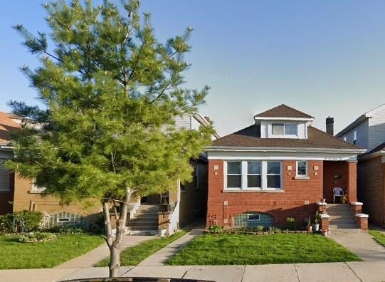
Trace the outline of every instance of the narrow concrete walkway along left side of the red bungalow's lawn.
<instances>
[{"instance_id":1,"label":"narrow concrete walkway along left side of the red bungalow's lawn","mask_svg":"<svg viewBox=\"0 0 385 282\"><path fill-rule=\"evenodd\" d=\"M166 261L169 260L174 254L180 251L181 248L186 246L196 236L204 233L204 229L193 229L189 233L184 234L181 238L176 239L172 243L160 249L155 254L152 254L148 258L144 259L138 266L163 266Z\"/></svg>"}]
</instances>

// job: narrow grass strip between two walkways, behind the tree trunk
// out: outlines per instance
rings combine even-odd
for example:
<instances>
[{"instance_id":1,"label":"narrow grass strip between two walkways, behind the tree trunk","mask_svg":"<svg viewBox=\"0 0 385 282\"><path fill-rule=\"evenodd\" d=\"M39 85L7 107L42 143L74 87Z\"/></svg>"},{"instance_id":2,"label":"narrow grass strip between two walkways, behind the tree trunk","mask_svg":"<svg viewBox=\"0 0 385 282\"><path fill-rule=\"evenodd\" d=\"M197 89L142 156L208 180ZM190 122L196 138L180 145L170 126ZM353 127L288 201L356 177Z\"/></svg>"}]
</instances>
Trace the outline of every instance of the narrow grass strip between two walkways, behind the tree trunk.
<instances>
[{"instance_id":1,"label":"narrow grass strip between two walkways, behind the tree trunk","mask_svg":"<svg viewBox=\"0 0 385 282\"><path fill-rule=\"evenodd\" d=\"M186 231L179 231L172 236L144 241L137 244L137 246L125 249L120 256L120 263L122 266L136 266L139 262L143 261L144 258L151 256L184 234L186 234ZM106 258L95 266L108 266L109 261L110 258Z\"/></svg>"}]
</instances>

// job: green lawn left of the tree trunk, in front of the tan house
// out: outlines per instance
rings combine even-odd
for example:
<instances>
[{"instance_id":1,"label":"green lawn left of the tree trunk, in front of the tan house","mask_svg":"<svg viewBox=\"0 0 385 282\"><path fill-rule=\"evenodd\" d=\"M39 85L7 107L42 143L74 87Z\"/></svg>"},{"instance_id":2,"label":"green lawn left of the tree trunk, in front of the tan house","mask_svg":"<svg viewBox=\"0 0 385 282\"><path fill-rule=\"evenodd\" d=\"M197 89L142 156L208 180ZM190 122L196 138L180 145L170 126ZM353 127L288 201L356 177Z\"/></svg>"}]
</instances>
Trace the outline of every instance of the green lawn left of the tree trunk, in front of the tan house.
<instances>
[{"instance_id":1,"label":"green lawn left of the tree trunk, in front of the tan house","mask_svg":"<svg viewBox=\"0 0 385 282\"><path fill-rule=\"evenodd\" d=\"M101 236L59 235L46 242L20 243L17 236L0 236L0 269L51 268L100 246ZM1 280L1 279L0 279Z\"/></svg>"}]
</instances>

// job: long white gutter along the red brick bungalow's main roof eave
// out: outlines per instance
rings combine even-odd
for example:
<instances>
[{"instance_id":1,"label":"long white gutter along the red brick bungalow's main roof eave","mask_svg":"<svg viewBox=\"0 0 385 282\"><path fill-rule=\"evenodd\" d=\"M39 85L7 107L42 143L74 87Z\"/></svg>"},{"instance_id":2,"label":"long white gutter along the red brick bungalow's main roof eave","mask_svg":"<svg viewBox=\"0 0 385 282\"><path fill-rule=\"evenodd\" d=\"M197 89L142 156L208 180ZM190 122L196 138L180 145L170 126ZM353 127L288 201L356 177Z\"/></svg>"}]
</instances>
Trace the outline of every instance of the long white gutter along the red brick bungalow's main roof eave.
<instances>
[{"instance_id":1,"label":"long white gutter along the red brick bungalow's main roof eave","mask_svg":"<svg viewBox=\"0 0 385 282\"><path fill-rule=\"evenodd\" d=\"M233 146L209 146L206 152L342 152L362 154L366 149L330 149L330 148L303 148L303 147L233 147ZM385 152L385 151L384 151Z\"/></svg>"}]
</instances>

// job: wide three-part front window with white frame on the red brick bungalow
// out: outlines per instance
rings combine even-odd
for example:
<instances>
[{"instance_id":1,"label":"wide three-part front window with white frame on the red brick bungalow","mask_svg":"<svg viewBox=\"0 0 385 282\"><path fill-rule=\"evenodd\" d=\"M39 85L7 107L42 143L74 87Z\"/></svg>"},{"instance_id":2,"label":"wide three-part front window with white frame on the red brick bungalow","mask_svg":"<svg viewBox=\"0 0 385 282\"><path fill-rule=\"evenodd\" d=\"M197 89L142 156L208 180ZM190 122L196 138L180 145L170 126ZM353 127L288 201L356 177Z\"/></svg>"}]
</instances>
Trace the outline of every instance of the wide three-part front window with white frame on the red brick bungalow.
<instances>
[{"instance_id":1,"label":"wide three-part front window with white frame on the red brick bungalow","mask_svg":"<svg viewBox=\"0 0 385 282\"><path fill-rule=\"evenodd\" d=\"M228 161L225 167L225 190L280 190L280 161Z\"/></svg>"}]
</instances>

